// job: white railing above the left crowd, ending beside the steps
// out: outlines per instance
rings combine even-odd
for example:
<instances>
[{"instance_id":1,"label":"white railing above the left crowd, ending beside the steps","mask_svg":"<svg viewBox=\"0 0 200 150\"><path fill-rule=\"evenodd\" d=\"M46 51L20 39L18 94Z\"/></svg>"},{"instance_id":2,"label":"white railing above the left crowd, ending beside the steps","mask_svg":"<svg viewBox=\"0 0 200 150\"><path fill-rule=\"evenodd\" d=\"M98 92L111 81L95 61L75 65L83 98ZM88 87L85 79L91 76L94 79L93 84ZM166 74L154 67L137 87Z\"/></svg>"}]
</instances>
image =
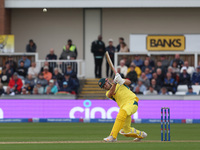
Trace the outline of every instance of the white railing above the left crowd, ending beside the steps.
<instances>
[{"instance_id":1,"label":"white railing above the left crowd, ending beside the steps","mask_svg":"<svg viewBox=\"0 0 200 150\"><path fill-rule=\"evenodd\" d=\"M67 66L70 65L72 69L77 72L78 78L85 77L85 61L77 60L37 60L37 65L43 67L45 62L49 62L50 67L57 67L61 73L65 73Z\"/></svg>"}]
</instances>

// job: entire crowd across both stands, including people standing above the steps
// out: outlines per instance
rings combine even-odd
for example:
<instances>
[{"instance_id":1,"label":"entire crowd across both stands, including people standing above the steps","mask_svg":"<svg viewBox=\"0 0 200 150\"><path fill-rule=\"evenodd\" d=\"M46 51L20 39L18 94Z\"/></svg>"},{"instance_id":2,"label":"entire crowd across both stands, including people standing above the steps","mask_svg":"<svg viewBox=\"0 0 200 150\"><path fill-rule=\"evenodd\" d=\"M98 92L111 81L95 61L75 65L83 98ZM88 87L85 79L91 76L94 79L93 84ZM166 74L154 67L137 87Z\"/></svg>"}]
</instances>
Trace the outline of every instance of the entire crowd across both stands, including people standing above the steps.
<instances>
[{"instance_id":1,"label":"entire crowd across both stands, including people standing above the steps","mask_svg":"<svg viewBox=\"0 0 200 150\"><path fill-rule=\"evenodd\" d=\"M36 52L37 46L33 40L26 46L26 52ZM115 52L129 52L124 38L119 38L119 44L113 46L113 40L109 39L108 46L102 41L102 36L91 44L91 52L95 60L95 77L101 78L101 66L105 52L108 51L114 63ZM74 60L77 58L77 48L68 40L63 46L60 60ZM57 60L54 50L46 56L46 60ZM53 67L52 67L53 66ZM31 62L24 55L18 62L12 56L8 60L0 74L0 95L15 94L77 94L79 80L77 78L77 64L57 65L54 62L45 62L38 68L35 62ZM158 60L152 60L146 56L141 59L135 55L134 59L128 61L125 57L120 60L117 72L123 78L131 81L130 88L136 94L144 95L170 95L177 92L178 85L187 85L187 95L198 95L193 92L192 85L200 84L200 63L197 68L190 66L188 61L183 61L179 54L173 60L166 59L166 55L161 55ZM107 77L113 77L108 63L106 64ZM3 85L8 85L4 90Z\"/></svg>"}]
</instances>

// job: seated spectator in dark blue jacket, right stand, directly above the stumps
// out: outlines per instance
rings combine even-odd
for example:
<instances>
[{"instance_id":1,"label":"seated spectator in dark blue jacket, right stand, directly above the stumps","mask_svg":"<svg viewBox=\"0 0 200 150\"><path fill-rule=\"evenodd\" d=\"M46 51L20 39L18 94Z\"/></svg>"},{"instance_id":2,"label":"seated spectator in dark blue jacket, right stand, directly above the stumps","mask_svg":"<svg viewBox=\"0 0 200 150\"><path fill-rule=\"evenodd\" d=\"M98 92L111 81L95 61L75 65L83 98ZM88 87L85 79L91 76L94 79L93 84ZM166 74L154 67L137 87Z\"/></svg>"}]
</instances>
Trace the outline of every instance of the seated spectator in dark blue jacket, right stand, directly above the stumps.
<instances>
[{"instance_id":1,"label":"seated spectator in dark blue jacket, right stand, directly above the stumps","mask_svg":"<svg viewBox=\"0 0 200 150\"><path fill-rule=\"evenodd\" d=\"M175 79L172 78L172 75L170 72L167 72L163 85L167 88L168 92L171 91L173 94L176 92L177 82Z\"/></svg>"}]
</instances>

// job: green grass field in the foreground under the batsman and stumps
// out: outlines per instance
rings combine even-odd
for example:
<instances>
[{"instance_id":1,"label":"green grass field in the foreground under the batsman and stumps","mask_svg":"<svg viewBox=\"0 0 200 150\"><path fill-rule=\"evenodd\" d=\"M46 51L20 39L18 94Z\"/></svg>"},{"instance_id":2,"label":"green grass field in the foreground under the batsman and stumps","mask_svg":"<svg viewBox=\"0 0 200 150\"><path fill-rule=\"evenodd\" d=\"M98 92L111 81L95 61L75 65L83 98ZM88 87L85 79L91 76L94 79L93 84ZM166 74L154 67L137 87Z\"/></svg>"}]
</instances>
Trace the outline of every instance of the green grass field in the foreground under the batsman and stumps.
<instances>
[{"instance_id":1,"label":"green grass field in the foreground under the batsman and stumps","mask_svg":"<svg viewBox=\"0 0 200 150\"><path fill-rule=\"evenodd\" d=\"M112 123L0 123L1 150L199 150L200 124L171 124L171 142L160 142L160 124L134 124L148 137L142 142L118 136L104 143Z\"/></svg>"}]
</instances>

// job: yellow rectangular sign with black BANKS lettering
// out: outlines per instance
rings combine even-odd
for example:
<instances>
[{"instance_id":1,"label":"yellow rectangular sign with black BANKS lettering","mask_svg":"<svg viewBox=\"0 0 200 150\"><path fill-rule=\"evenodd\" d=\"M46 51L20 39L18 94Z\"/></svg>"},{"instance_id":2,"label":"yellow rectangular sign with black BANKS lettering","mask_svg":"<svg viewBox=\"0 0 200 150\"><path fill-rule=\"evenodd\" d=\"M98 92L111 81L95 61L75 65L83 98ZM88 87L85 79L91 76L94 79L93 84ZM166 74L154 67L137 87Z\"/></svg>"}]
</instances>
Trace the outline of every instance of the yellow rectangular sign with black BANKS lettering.
<instances>
[{"instance_id":1,"label":"yellow rectangular sign with black BANKS lettering","mask_svg":"<svg viewBox=\"0 0 200 150\"><path fill-rule=\"evenodd\" d=\"M183 51L185 50L185 36L148 35L148 51Z\"/></svg>"}]
</instances>

